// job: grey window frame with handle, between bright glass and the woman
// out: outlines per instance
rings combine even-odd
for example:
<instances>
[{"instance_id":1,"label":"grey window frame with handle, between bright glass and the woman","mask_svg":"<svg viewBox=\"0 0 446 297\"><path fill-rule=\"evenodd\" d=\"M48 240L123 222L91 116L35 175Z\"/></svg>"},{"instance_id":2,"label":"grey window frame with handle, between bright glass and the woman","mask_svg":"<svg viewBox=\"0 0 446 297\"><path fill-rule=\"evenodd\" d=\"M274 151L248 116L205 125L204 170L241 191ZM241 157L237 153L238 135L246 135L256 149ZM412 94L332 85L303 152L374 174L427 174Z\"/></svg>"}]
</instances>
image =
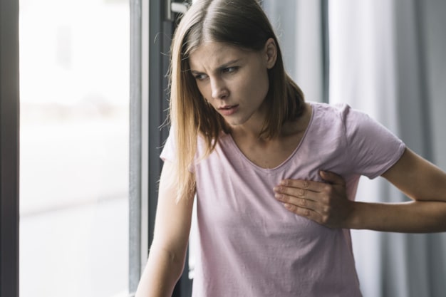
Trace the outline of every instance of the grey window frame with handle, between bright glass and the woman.
<instances>
[{"instance_id":1,"label":"grey window frame with handle, between bright glass and the woman","mask_svg":"<svg viewBox=\"0 0 446 297\"><path fill-rule=\"evenodd\" d=\"M177 24L172 2L130 0L130 296L138 287L153 239L160 152L169 134L167 72ZM173 297L191 296L188 269L185 265Z\"/></svg>"}]
</instances>

